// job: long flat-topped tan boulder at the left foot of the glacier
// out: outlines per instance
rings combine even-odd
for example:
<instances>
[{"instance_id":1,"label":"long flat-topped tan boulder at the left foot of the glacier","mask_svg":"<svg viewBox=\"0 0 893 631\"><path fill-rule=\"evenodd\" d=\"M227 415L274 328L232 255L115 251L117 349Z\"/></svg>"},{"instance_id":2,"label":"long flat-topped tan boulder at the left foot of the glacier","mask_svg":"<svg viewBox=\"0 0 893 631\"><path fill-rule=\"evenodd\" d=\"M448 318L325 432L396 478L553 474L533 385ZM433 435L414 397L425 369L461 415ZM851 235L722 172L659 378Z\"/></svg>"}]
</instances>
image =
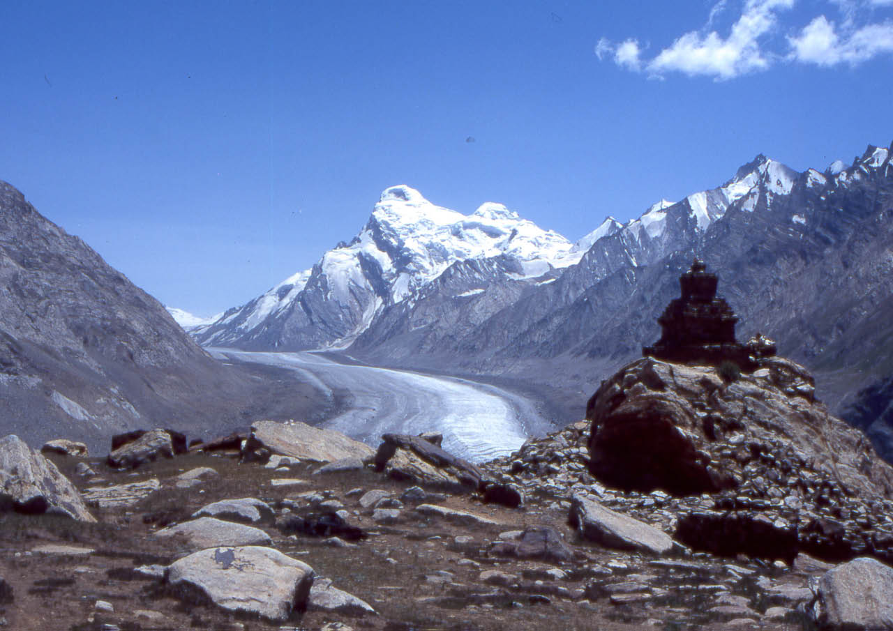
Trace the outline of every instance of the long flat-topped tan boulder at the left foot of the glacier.
<instances>
[{"instance_id":1,"label":"long flat-topped tan boulder at the left foot of the glacier","mask_svg":"<svg viewBox=\"0 0 893 631\"><path fill-rule=\"evenodd\" d=\"M334 462L346 458L363 460L373 452L368 444L333 429L314 428L296 421L261 420L251 426L244 453L246 457L261 460L278 453L302 461Z\"/></svg>"}]
</instances>

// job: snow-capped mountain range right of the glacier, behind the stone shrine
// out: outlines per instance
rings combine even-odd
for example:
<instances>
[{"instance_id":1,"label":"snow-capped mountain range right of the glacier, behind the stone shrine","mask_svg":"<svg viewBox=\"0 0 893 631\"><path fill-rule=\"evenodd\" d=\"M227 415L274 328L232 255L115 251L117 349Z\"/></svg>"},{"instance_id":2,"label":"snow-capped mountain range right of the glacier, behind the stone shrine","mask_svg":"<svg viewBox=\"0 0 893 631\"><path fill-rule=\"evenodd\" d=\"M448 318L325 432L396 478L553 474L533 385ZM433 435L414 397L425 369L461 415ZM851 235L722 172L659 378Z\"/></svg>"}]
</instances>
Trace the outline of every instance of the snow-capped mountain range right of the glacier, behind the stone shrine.
<instances>
[{"instance_id":1,"label":"snow-capped mountain range right of the glacier, behind the stone shrine","mask_svg":"<svg viewBox=\"0 0 893 631\"><path fill-rule=\"evenodd\" d=\"M697 254L719 274L739 337L776 339L814 370L831 410L893 457L893 414L872 412L887 410L879 384L893 374L890 153L869 145L849 164L804 172L758 155L719 187L625 224L608 217L577 243L500 204L463 215L391 187L353 240L192 335L533 380L554 388L570 420L599 379L656 339Z\"/></svg>"}]
</instances>

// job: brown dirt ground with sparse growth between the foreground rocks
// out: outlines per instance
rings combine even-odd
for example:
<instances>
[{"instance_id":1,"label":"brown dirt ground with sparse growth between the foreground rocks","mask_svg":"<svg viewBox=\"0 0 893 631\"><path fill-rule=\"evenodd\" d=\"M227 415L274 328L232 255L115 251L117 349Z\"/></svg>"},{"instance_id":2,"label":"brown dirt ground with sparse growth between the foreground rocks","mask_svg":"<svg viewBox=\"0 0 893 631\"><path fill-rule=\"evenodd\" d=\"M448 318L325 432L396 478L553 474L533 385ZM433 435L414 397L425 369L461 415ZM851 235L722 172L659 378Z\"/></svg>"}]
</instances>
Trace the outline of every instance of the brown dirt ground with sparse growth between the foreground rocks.
<instances>
[{"instance_id":1,"label":"brown dirt ground with sparse growth between the foreground rocks","mask_svg":"<svg viewBox=\"0 0 893 631\"><path fill-rule=\"evenodd\" d=\"M77 461L54 457L63 473L79 487L91 486L74 473ZM409 485L382 477L371 469L328 476L313 476L318 465L301 464L290 472L264 469L256 463L239 464L227 456L190 454L157 461L136 471L107 468L100 459L88 462L105 482L123 484L158 477L163 487L127 509L94 509L97 524L48 516L0 514L0 576L13 586L14 601L0 605L7 628L71 629L99 631L110 624L123 631L150 629L320 629L342 622L354 629L375 631L516 629L542 631L559 629L708 628L726 619L698 610L697 601L667 598L646 607L612 605L591 598L580 602L579 591L592 583L588 567L608 560L626 560L633 567L641 559L627 552L606 551L577 540L567 527L566 510L544 494L529 498L526 510L482 504L468 496L449 496L438 502L463 511L473 511L500 522L499 526L457 526L441 519L420 518L407 505L403 518L391 526L378 526L357 504L358 496L346 493L357 487L385 489L396 496ZM171 478L182 471L209 466L219 477L183 490L172 487ZM299 477L302 486L273 487L273 477ZM329 577L339 589L369 602L380 615L360 617L320 611L297 612L288 623L233 615L211 606L180 602L165 593L156 581L135 575L132 569L149 563L167 564L185 553L182 542L152 535L156 524L181 521L206 503L225 498L257 497L271 505L291 500L306 505L301 494L328 492L344 502L349 511L359 511L352 523L368 529L370 536L351 547L333 547L320 538L283 536L271 525L263 527L273 538L273 547L309 563L321 577ZM277 511L280 515L281 511ZM301 514L297 509L296 514ZM155 523L146 523L154 520ZM565 540L581 552L581 560L565 564L569 576L562 581L536 585L538 570L555 566L539 561L501 559L488 556L487 544L500 532L527 525L548 524L563 533ZM455 536L472 536L471 544L456 544ZM82 555L30 552L40 544L71 544L93 548ZM462 561L460 563L460 560ZM469 562L471 560L473 562ZM500 569L522 576L527 589L499 588L480 583L484 569ZM438 571L451 577L438 580ZM631 571L631 570L630 570ZM566 591L562 591L566 590ZM534 594L546 595L548 601ZM496 594L486 599L475 594ZM747 595L747 594L745 594ZM532 596L532 597L531 597ZM432 600L437 599L437 600ZM113 613L94 611L97 600L111 602ZM4 609L4 611L2 610ZM158 621L138 617L138 610L163 615ZM739 627L742 628L742 627ZM747 627L744 627L747 628ZM802 628L791 618L772 627Z\"/></svg>"}]
</instances>

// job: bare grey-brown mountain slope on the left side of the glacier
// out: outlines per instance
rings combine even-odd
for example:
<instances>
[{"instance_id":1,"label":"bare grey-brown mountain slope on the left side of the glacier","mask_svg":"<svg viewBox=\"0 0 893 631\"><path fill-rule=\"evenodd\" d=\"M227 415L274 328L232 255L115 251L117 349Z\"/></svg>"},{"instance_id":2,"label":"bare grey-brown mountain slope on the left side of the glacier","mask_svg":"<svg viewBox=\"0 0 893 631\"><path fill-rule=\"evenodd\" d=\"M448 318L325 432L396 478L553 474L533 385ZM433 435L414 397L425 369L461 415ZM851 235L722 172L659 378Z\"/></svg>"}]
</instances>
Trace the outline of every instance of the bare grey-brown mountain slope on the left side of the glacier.
<instances>
[{"instance_id":1,"label":"bare grey-brown mountain slope on the left side of the glacier","mask_svg":"<svg viewBox=\"0 0 893 631\"><path fill-rule=\"evenodd\" d=\"M0 424L32 444L173 421L226 427L248 395L152 296L0 182Z\"/></svg>"}]
</instances>

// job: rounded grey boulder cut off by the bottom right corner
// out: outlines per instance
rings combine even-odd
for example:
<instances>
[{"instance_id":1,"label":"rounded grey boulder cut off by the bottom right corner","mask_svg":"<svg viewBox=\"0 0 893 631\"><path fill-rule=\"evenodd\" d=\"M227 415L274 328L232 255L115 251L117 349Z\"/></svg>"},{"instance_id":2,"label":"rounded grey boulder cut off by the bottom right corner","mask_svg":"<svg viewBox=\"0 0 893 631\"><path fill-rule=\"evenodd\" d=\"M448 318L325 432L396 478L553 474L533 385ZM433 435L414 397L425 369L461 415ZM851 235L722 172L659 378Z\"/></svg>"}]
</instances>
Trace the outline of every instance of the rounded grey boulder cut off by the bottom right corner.
<instances>
[{"instance_id":1,"label":"rounded grey boulder cut off by the bottom right corner","mask_svg":"<svg viewBox=\"0 0 893 631\"><path fill-rule=\"evenodd\" d=\"M828 570L813 585L814 621L829 629L893 629L893 568L860 557Z\"/></svg>"}]
</instances>

